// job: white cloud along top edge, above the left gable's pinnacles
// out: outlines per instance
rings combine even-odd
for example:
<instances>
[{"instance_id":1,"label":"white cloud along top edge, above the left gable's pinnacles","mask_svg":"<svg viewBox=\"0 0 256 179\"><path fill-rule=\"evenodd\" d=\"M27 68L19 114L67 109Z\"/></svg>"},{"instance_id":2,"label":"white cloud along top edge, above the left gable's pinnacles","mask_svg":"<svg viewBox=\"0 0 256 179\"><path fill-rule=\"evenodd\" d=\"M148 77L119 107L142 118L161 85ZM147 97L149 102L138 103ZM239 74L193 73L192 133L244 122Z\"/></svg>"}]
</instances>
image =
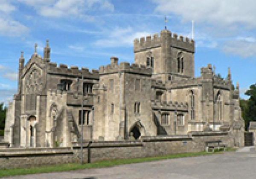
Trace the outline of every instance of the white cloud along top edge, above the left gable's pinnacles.
<instances>
[{"instance_id":1,"label":"white cloud along top edge, above the left gable's pinnacles","mask_svg":"<svg viewBox=\"0 0 256 179\"><path fill-rule=\"evenodd\" d=\"M79 17L92 21L94 18L87 12L96 9L113 12L114 6L108 0L19 0L32 6L44 17Z\"/></svg>"}]
</instances>

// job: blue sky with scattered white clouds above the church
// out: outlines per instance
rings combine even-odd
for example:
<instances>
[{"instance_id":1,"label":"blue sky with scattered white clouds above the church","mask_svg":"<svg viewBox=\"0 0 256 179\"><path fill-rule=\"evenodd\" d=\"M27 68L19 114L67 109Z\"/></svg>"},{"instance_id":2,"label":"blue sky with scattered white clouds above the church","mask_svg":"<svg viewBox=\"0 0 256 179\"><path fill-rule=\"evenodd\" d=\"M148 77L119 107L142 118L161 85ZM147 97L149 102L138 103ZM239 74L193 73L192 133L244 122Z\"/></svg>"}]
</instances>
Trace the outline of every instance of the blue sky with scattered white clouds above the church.
<instances>
[{"instance_id":1,"label":"blue sky with scattered white clouds above the church","mask_svg":"<svg viewBox=\"0 0 256 179\"><path fill-rule=\"evenodd\" d=\"M164 16L171 32L191 38L195 20L195 75L212 64L239 81L241 97L256 83L254 0L0 0L0 101L17 91L20 52L26 62L46 39L51 61L98 69L134 61L133 39L160 32Z\"/></svg>"}]
</instances>

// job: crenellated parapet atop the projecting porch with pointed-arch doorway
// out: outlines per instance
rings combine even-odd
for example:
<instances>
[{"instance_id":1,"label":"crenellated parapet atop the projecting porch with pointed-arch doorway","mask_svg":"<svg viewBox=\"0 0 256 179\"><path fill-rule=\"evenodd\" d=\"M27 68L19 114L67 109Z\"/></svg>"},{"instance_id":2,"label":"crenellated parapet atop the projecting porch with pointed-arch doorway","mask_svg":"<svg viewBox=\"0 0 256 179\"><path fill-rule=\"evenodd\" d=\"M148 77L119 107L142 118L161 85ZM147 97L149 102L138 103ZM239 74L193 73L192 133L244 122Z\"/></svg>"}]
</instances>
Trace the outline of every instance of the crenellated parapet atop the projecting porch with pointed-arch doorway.
<instances>
[{"instance_id":1,"label":"crenellated parapet atop the projecting porch with pointed-arch doorway","mask_svg":"<svg viewBox=\"0 0 256 179\"><path fill-rule=\"evenodd\" d=\"M143 65L131 64L128 62L121 62L119 65L107 65L99 67L99 75L107 75L117 72L130 72L141 75L152 75L152 69Z\"/></svg>"}]
</instances>

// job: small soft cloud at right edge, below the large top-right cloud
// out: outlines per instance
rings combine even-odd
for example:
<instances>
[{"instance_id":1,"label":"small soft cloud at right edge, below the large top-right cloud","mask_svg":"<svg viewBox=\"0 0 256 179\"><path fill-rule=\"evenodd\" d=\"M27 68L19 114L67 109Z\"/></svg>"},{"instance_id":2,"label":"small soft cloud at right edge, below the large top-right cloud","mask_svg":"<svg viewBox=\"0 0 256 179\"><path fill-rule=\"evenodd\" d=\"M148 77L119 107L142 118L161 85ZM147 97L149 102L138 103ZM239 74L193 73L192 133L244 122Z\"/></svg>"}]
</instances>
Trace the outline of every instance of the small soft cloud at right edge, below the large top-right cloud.
<instances>
[{"instance_id":1,"label":"small soft cloud at right edge, below the large top-right cloud","mask_svg":"<svg viewBox=\"0 0 256 179\"><path fill-rule=\"evenodd\" d=\"M247 40L233 40L224 44L222 50L225 53L239 55L242 58L256 56L256 42Z\"/></svg>"}]
</instances>

